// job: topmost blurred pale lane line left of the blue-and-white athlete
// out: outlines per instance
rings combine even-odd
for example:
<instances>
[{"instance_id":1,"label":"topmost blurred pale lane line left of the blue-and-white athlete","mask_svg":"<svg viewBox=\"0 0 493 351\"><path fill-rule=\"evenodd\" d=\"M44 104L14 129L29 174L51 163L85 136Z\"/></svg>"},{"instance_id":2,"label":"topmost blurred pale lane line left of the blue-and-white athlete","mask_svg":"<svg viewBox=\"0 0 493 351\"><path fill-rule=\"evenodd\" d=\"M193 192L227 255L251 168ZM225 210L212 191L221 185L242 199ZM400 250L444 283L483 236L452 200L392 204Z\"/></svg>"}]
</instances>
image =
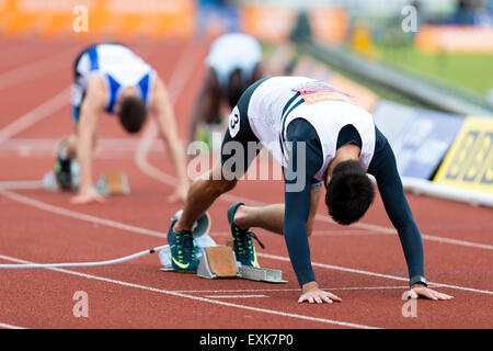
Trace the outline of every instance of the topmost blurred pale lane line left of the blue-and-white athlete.
<instances>
[{"instance_id":1,"label":"topmost blurred pale lane line left of the blue-and-white athlete","mask_svg":"<svg viewBox=\"0 0 493 351\"><path fill-rule=\"evenodd\" d=\"M78 48L70 48L55 56L48 55L48 57L34 63L9 69L5 73L0 75L0 90L58 70L62 65L69 66L71 61L68 59L73 58Z\"/></svg>"}]
</instances>

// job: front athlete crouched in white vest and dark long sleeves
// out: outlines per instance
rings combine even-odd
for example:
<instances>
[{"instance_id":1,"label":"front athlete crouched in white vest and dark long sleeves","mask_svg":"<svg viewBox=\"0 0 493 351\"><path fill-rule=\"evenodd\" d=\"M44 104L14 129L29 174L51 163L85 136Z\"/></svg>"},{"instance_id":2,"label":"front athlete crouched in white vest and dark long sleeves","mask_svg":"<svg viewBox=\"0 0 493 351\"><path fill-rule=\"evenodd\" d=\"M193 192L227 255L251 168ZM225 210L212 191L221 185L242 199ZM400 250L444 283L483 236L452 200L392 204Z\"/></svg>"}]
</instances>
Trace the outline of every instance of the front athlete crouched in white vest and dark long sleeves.
<instances>
[{"instance_id":1,"label":"front athlete crouched in white vest and dark long sleeves","mask_svg":"<svg viewBox=\"0 0 493 351\"><path fill-rule=\"evenodd\" d=\"M195 271L197 260L191 229L222 193L234 188L259 154L261 144L283 165L285 203L266 206L233 204L227 215L233 250L242 264L256 265L250 230L253 227L284 235L289 259L301 286L299 302L332 303L336 295L319 287L308 237L322 189L329 214L341 225L359 220L375 197L372 174L385 208L397 228L410 278L411 297L449 299L427 287L421 234L406 202L395 158L371 114L329 83L305 77L274 77L252 84L233 109L221 147L221 162L187 193L185 207L168 234L173 264Z\"/></svg>"}]
</instances>

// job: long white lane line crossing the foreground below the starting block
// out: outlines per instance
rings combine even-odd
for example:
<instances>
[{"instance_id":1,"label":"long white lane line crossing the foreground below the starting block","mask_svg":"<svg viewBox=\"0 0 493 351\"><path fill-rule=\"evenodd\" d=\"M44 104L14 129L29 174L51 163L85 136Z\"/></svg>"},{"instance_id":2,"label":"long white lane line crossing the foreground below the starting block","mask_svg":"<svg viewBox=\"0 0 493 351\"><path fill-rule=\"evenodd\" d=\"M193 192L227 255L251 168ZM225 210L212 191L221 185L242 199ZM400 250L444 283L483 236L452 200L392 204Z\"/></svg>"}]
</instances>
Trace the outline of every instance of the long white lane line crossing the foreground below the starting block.
<instances>
[{"instance_id":1,"label":"long white lane line crossing the foreground below the starting block","mask_svg":"<svg viewBox=\"0 0 493 351\"><path fill-rule=\"evenodd\" d=\"M7 260L7 261L13 261L13 262L16 262L16 263L24 263L24 264L36 263L36 262L31 262L31 261L26 261L26 260L13 258L13 257L4 256L4 254L0 254L0 259ZM204 303L222 305L222 306L234 307L234 308L240 308L240 309L248 309L248 310L253 310L253 312L264 313L264 314L270 314L270 315L277 315L277 316L283 316L283 317L291 317L291 318L303 319L303 320L309 320L309 321L319 321L319 322L336 325L336 326L343 326L343 327L349 327L349 328L378 329L376 327L370 327L370 326L366 326L366 325L358 325L358 324L340 321L340 320L333 320L333 319L317 318L317 317L311 317L311 316L284 313L284 312L279 312L279 310L275 310L275 309L259 308L259 307L251 307L251 306L246 306L246 305L226 303L226 302L216 301L216 299L211 299L211 298L206 298L206 297L200 297L200 296L193 296L193 295L186 295L186 294L176 293L176 292L172 292L172 291L168 291L168 290L146 286L146 285L141 285L141 284L128 283L128 282L114 280L114 279L110 279L110 278L104 278L104 276L99 276L99 275L93 275L93 274L81 273L81 272L77 272L77 271L72 271L72 270L58 269L58 268L49 268L48 270L60 272L60 273L66 273L66 274L71 274L71 275L77 275L77 276L85 278L85 279L89 279L89 280L95 280L95 281L100 281L100 282L112 283L112 284L117 284L117 285L127 286L127 287L140 288L140 290L145 290L145 291L148 291L148 292L165 294L165 295L172 295L172 296L176 296L176 297L184 297L184 298L190 298L190 299L199 301L199 302L204 302Z\"/></svg>"}]
</instances>

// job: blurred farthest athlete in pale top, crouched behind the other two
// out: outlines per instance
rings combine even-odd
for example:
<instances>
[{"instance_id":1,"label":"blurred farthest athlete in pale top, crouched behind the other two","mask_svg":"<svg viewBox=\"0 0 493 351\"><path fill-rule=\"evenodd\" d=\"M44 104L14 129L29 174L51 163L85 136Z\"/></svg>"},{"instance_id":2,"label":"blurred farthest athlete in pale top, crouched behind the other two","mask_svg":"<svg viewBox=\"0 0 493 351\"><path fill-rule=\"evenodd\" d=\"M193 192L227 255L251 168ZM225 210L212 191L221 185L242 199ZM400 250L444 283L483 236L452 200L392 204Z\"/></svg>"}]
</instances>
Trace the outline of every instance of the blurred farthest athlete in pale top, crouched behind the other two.
<instances>
[{"instance_id":1,"label":"blurred farthest athlete in pale top, crouched behind the other two","mask_svg":"<svg viewBox=\"0 0 493 351\"><path fill-rule=\"evenodd\" d=\"M225 34L211 44L206 79L191 120L190 141L208 141L200 126L222 129L222 116L229 115L250 84L263 78L262 58L262 45L246 34Z\"/></svg>"}]
</instances>

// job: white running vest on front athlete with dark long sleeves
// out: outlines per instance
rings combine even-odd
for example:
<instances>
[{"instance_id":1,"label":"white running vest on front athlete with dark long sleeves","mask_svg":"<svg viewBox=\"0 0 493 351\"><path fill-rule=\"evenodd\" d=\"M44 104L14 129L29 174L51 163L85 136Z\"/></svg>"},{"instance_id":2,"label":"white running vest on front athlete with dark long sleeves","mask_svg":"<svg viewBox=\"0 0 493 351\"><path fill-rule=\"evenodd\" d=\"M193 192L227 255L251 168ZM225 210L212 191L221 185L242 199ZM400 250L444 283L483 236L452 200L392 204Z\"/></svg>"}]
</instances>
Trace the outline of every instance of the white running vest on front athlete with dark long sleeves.
<instances>
[{"instance_id":1,"label":"white running vest on front athlete with dark long sleeves","mask_svg":"<svg viewBox=\"0 0 493 351\"><path fill-rule=\"evenodd\" d=\"M297 91L300 94L296 94ZM318 180L323 180L324 172L335 156L339 133L345 125L353 125L359 133L359 162L365 171L375 152L372 115L352 102L349 95L314 79L267 79L253 92L248 116L255 136L283 167L288 165L287 150L290 147L286 143L287 126L296 118L308 121L317 131L322 145L323 163L316 174Z\"/></svg>"}]
</instances>

